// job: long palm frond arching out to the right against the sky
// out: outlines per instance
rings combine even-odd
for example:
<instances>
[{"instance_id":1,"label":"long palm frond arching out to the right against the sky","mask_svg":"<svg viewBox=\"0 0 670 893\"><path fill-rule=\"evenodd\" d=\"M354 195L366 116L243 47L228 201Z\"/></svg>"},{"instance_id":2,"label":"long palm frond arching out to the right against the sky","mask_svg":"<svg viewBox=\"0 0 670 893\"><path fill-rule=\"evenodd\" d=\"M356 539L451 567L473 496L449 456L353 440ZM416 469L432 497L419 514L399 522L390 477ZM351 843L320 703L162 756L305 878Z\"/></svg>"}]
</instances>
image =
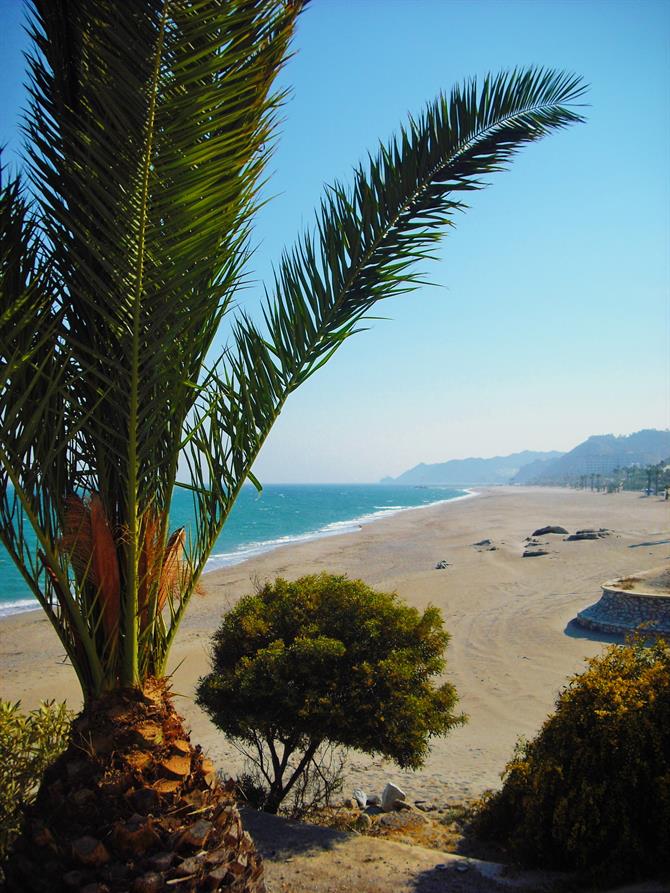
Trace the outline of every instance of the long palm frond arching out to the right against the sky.
<instances>
[{"instance_id":1,"label":"long palm frond arching out to the right against the sky","mask_svg":"<svg viewBox=\"0 0 670 893\"><path fill-rule=\"evenodd\" d=\"M525 144L582 121L580 78L531 68L473 80L424 113L337 183L314 233L284 254L264 326L238 318L187 441L196 483L200 570L288 395L314 374L384 298L420 282L462 194L505 168Z\"/></svg>"}]
</instances>

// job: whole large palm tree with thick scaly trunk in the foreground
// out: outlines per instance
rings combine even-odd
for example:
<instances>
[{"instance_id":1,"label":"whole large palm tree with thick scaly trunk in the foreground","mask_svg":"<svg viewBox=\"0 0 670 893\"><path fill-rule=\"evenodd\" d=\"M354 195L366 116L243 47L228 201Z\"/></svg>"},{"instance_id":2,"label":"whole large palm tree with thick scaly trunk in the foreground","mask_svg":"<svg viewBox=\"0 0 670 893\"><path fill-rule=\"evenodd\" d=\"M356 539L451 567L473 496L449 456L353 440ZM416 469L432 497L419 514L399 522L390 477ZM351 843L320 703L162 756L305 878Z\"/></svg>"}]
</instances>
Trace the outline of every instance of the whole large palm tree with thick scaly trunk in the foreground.
<instances>
[{"instance_id":1,"label":"whole large palm tree with thick scaly trunk in the foreground","mask_svg":"<svg viewBox=\"0 0 670 893\"><path fill-rule=\"evenodd\" d=\"M188 889L262 888L229 794L171 704L180 621L288 396L377 301L419 282L415 262L482 176L582 120L579 78L555 71L439 96L352 187L326 192L262 324L238 313L207 364L244 281L283 98L273 83L303 5L30 4L35 199L18 180L0 199L0 535L84 709L10 889L143 890L189 873ZM170 529L175 487L193 499L189 536Z\"/></svg>"}]
</instances>

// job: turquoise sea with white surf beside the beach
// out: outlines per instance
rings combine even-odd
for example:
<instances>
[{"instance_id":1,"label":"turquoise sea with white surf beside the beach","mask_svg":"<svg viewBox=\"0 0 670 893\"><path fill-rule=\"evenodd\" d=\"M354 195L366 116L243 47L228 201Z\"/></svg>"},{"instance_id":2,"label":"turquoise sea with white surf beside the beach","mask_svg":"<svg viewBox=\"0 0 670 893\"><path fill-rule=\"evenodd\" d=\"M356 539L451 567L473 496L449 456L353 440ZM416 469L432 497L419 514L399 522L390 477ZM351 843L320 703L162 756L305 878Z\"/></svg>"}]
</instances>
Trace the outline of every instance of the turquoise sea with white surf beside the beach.
<instances>
[{"instance_id":1,"label":"turquoise sea with white surf beside the beach","mask_svg":"<svg viewBox=\"0 0 670 893\"><path fill-rule=\"evenodd\" d=\"M206 571L239 564L289 543L350 533L396 512L467 498L469 491L398 484L245 485L219 536ZM170 527L192 524L191 495L176 490ZM0 617L39 608L9 555L0 546Z\"/></svg>"}]
</instances>

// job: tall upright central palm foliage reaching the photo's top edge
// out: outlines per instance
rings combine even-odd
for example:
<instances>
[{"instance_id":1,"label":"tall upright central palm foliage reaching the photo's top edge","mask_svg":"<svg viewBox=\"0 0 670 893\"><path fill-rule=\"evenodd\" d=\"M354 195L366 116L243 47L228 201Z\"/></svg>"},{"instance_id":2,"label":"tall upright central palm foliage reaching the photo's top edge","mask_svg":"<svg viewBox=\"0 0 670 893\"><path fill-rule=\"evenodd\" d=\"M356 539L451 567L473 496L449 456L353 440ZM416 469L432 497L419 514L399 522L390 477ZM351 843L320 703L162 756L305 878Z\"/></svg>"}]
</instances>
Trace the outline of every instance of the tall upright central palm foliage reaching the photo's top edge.
<instances>
[{"instance_id":1,"label":"tall upright central palm foliage reaching the photo's top edge","mask_svg":"<svg viewBox=\"0 0 670 893\"><path fill-rule=\"evenodd\" d=\"M56 273L59 350L78 379L69 418L86 418L49 489L98 493L110 528L123 530L128 684L138 599L155 605L160 579L141 567L143 518L169 508L200 367L247 260L283 98L273 82L303 5L31 2L30 174ZM76 481L73 466L85 470ZM160 556L165 525L161 534Z\"/></svg>"}]
</instances>

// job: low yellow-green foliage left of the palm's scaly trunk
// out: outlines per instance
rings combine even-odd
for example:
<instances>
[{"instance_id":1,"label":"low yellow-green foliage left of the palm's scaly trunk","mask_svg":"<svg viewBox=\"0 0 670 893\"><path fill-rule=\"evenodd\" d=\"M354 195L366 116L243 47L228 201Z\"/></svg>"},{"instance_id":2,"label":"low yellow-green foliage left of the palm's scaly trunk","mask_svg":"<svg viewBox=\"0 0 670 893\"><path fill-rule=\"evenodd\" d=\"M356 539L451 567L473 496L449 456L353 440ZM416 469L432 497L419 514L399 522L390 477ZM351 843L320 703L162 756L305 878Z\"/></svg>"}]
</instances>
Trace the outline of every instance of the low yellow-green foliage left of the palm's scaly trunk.
<instances>
[{"instance_id":1,"label":"low yellow-green foliage left of the palm's scaly trunk","mask_svg":"<svg viewBox=\"0 0 670 893\"><path fill-rule=\"evenodd\" d=\"M0 858L37 793L42 773L65 750L74 717L65 704L46 701L30 713L0 700Z\"/></svg>"}]
</instances>

